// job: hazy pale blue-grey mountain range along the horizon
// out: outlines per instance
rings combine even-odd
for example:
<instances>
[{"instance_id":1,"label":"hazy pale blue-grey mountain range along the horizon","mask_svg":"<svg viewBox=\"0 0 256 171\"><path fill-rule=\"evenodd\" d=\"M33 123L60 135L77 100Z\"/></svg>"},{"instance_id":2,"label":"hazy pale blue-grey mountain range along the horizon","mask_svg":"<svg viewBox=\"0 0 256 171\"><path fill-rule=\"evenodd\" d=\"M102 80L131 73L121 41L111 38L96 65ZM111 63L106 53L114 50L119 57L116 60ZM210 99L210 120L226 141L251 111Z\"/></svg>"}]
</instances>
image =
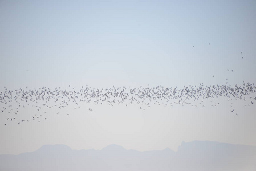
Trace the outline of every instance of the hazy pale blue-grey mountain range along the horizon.
<instances>
[{"instance_id":1,"label":"hazy pale blue-grey mountain range along the horizon","mask_svg":"<svg viewBox=\"0 0 256 171\"><path fill-rule=\"evenodd\" d=\"M0 155L0 170L256 170L256 146L212 141L182 142L168 148L139 152L120 145L101 150L72 150L66 145L44 145L31 153Z\"/></svg>"}]
</instances>

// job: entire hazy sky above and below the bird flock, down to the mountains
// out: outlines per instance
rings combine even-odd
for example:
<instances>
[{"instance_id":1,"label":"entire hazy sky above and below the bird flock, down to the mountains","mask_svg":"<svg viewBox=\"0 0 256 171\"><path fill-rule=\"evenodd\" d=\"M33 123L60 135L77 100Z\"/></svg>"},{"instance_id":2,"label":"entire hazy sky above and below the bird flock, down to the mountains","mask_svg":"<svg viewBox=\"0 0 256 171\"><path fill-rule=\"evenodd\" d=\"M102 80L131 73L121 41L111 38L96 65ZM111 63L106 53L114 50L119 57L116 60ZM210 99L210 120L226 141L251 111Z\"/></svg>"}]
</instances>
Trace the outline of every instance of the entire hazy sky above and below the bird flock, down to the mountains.
<instances>
[{"instance_id":1,"label":"entire hazy sky above and below the bird flock, down to the mountains","mask_svg":"<svg viewBox=\"0 0 256 171\"><path fill-rule=\"evenodd\" d=\"M1 1L0 21L0 91L256 83L255 1ZM233 99L234 107L213 99L216 108L71 105L49 109L47 121L7 127L1 113L0 154L45 144L141 151L193 140L256 145L256 108L244 106L254 96ZM28 107L17 117L31 115Z\"/></svg>"}]
</instances>

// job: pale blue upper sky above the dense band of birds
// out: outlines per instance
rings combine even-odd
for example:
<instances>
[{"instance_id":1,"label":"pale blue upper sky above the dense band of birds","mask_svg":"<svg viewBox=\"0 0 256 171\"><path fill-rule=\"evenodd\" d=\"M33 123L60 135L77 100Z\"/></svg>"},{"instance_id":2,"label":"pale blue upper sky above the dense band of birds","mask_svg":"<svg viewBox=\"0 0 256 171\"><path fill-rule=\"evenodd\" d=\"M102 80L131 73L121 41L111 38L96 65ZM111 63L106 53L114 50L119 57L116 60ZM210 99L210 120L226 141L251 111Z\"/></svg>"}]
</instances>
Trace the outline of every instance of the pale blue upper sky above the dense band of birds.
<instances>
[{"instance_id":1,"label":"pale blue upper sky above the dense band of birds","mask_svg":"<svg viewBox=\"0 0 256 171\"><path fill-rule=\"evenodd\" d=\"M249 74L256 72L255 1L2 1L0 7L1 86L80 86L107 75L121 83L214 84L232 68L236 80L255 81Z\"/></svg>"}]
</instances>

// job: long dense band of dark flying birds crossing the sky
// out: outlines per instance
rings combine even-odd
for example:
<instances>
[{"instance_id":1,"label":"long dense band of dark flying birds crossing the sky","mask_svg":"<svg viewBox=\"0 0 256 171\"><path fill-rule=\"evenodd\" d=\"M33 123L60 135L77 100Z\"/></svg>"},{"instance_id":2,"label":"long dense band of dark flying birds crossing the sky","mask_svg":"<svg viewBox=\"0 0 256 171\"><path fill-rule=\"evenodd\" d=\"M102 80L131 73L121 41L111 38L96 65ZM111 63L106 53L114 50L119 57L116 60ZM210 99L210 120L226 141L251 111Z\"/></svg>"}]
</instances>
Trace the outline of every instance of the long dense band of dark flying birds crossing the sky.
<instances>
[{"instance_id":1,"label":"long dense band of dark flying birds crossing the sky","mask_svg":"<svg viewBox=\"0 0 256 171\"><path fill-rule=\"evenodd\" d=\"M0 113L6 113L7 121L16 121L18 124L28 121L46 120L44 116L47 108L66 108L71 103L80 108L81 104L94 103L108 105L140 105L140 109L145 110L145 107L150 107L151 104L159 105L194 105L193 101L203 102L204 99L214 99L218 97L226 97L227 100L245 100L247 95L255 95L256 86L251 83L243 83L241 86L235 85L234 87L226 85L213 85L213 86L184 86L184 88L169 88L157 86L149 87L111 87L111 88L91 88L84 86L78 91L70 86L67 89L62 88L47 88L42 87L39 89L19 88L15 90L7 89L0 93L0 104L3 106ZM250 101L247 105L253 105L256 97L250 96ZM212 102L212 101L211 101ZM201 104L201 103L200 103ZM218 105L211 104L213 107ZM17 121L15 116L18 115L21 108L34 107L36 109L34 115L29 119L22 119ZM205 107L205 105L200 105ZM74 108L76 109L76 107ZM93 111L92 108L88 109L89 112ZM43 112L43 113L42 113ZM235 109L230 112L235 113ZM59 114L59 112L56 112ZM66 113L70 115L69 113ZM238 115L237 113L235 113ZM6 125L7 123L5 123Z\"/></svg>"}]
</instances>

